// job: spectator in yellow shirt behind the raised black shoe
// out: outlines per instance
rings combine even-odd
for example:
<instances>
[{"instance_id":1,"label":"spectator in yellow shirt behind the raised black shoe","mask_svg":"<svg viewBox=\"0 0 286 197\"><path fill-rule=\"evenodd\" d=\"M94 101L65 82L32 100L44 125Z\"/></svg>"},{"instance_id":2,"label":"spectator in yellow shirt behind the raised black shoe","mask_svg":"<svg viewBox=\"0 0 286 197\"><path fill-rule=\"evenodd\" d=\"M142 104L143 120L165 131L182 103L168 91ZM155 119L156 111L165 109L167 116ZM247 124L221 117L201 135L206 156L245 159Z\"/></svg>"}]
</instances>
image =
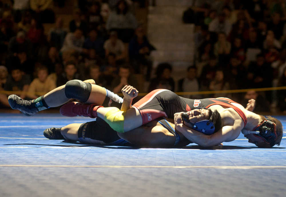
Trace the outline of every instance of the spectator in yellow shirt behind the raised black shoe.
<instances>
[{"instance_id":1,"label":"spectator in yellow shirt behind the raised black shoe","mask_svg":"<svg viewBox=\"0 0 286 197\"><path fill-rule=\"evenodd\" d=\"M37 78L35 78L29 86L28 97L36 99L37 97L56 88L55 81L47 78L47 67L41 66L37 68Z\"/></svg>"}]
</instances>

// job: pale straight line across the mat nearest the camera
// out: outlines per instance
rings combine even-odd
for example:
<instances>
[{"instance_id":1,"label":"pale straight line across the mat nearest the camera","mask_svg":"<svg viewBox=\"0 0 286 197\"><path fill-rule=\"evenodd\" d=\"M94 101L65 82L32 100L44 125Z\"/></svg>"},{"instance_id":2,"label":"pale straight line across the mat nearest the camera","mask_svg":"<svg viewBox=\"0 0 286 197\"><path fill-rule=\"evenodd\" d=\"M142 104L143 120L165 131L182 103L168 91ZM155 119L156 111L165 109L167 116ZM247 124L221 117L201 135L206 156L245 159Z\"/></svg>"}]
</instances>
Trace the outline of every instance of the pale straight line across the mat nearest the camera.
<instances>
[{"instance_id":1,"label":"pale straight line across the mat nearest the camera","mask_svg":"<svg viewBox=\"0 0 286 197\"><path fill-rule=\"evenodd\" d=\"M201 168L201 169L286 169L286 166L72 166L72 165L0 165L0 167L40 168Z\"/></svg>"}]
</instances>

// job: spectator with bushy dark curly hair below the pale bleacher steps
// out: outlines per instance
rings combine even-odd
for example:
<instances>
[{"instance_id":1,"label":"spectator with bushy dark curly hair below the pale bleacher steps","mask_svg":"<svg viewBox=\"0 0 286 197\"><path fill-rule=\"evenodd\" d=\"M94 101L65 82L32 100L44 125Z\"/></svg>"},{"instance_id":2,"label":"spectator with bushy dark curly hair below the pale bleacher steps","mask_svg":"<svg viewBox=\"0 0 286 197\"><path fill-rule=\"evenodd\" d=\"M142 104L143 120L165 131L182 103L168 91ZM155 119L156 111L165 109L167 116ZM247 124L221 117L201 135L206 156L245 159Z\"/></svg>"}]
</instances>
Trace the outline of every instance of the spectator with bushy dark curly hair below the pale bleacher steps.
<instances>
[{"instance_id":1,"label":"spectator with bushy dark curly hair below the pale bleacher steps","mask_svg":"<svg viewBox=\"0 0 286 197\"><path fill-rule=\"evenodd\" d=\"M171 77L172 66L169 63L160 63L156 69L156 77L150 80L148 92L154 89L168 89L175 91L175 81Z\"/></svg>"}]
</instances>

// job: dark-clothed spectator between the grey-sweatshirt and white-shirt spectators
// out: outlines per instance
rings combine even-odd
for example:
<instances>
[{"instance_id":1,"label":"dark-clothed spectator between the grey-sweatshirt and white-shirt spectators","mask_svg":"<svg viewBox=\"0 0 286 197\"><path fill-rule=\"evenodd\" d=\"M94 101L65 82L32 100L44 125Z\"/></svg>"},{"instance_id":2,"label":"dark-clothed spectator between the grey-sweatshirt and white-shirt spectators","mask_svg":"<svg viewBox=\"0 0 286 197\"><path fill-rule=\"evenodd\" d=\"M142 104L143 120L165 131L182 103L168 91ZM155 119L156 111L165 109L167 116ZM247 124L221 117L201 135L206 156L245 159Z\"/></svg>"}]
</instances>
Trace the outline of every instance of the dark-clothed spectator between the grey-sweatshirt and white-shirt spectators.
<instances>
[{"instance_id":1,"label":"dark-clothed spectator between the grey-sweatshirt and white-shirt spectators","mask_svg":"<svg viewBox=\"0 0 286 197\"><path fill-rule=\"evenodd\" d=\"M102 37L98 36L98 32L96 29L90 30L88 35L89 37L86 38L86 40L84 41L83 47L85 49L95 49L96 54L103 58L105 55L103 48L104 40L102 39Z\"/></svg>"}]
</instances>

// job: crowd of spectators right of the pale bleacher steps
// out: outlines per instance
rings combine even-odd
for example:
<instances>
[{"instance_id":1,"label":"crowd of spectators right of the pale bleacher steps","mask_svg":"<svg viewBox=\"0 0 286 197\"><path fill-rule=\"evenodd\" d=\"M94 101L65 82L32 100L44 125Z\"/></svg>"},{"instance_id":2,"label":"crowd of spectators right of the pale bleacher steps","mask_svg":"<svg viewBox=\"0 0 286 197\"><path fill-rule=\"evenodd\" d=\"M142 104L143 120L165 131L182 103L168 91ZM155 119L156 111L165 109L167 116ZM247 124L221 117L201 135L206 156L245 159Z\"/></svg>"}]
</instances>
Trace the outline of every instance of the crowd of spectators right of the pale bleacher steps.
<instances>
[{"instance_id":1,"label":"crowd of spectators right of the pale bleacher steps","mask_svg":"<svg viewBox=\"0 0 286 197\"><path fill-rule=\"evenodd\" d=\"M247 89L285 85L286 3L279 0L196 0L183 13L185 23L194 23L194 91ZM181 91L188 85L183 83ZM257 110L271 107L286 112L285 90L242 94L212 94L247 103L257 100Z\"/></svg>"}]
</instances>

